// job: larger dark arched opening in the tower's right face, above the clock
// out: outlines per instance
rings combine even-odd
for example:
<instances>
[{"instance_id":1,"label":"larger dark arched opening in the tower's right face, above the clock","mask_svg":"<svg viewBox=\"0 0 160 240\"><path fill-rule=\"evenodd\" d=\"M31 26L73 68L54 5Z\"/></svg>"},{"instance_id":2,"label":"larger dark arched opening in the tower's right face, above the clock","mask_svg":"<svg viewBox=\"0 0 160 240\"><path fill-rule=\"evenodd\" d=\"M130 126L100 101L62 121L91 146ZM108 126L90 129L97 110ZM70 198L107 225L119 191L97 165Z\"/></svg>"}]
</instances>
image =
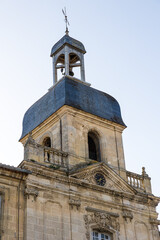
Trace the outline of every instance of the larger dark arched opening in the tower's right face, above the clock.
<instances>
[{"instance_id":1,"label":"larger dark arched opening in the tower's right face, above the clock","mask_svg":"<svg viewBox=\"0 0 160 240\"><path fill-rule=\"evenodd\" d=\"M89 159L100 162L99 139L94 132L88 133L88 152Z\"/></svg>"}]
</instances>

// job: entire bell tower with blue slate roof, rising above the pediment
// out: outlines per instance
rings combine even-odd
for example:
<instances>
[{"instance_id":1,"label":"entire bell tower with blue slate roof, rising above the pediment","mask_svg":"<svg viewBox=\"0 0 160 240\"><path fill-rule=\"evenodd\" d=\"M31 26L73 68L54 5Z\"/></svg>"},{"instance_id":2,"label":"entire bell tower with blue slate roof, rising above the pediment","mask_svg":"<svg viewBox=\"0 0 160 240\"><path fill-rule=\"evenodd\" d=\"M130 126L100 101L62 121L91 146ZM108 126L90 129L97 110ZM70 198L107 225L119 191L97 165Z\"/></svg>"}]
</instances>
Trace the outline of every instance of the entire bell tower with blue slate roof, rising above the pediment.
<instances>
[{"instance_id":1,"label":"entire bell tower with blue slate roof, rising above the pediment","mask_svg":"<svg viewBox=\"0 0 160 240\"><path fill-rule=\"evenodd\" d=\"M52 47L54 84L25 113L20 139L24 158L69 169L104 162L126 178L122 143L126 126L120 106L85 81L85 53L84 45L68 30Z\"/></svg>"}]
</instances>

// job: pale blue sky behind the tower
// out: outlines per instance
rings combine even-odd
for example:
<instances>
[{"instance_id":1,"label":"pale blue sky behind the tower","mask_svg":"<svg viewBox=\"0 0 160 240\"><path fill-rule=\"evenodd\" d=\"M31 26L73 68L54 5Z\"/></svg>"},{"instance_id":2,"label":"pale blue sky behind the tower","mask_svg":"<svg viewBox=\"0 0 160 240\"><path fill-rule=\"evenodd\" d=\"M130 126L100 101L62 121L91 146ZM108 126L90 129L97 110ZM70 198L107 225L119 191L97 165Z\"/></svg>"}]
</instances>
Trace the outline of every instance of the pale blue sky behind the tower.
<instances>
[{"instance_id":1,"label":"pale blue sky behind the tower","mask_svg":"<svg viewBox=\"0 0 160 240\"><path fill-rule=\"evenodd\" d=\"M50 51L65 32L64 7L70 36L87 51L86 81L121 106L127 170L145 166L160 196L159 0L0 0L0 162L23 160L23 116L53 84Z\"/></svg>"}]
</instances>

